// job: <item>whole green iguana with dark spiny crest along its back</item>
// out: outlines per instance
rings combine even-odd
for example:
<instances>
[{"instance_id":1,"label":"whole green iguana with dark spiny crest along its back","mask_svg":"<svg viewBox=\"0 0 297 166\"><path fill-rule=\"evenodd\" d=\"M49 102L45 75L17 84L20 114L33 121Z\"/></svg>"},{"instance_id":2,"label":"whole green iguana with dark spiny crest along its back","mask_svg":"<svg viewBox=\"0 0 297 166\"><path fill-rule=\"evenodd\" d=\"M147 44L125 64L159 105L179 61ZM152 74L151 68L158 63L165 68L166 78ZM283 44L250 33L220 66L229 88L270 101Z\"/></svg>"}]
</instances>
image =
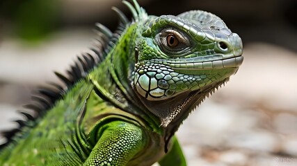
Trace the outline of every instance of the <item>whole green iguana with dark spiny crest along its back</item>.
<instances>
[{"instance_id":1,"label":"whole green iguana with dark spiny crest along its back","mask_svg":"<svg viewBox=\"0 0 297 166\"><path fill-rule=\"evenodd\" d=\"M243 62L241 38L216 15L120 17L67 71L38 89L19 129L3 132L0 165L186 165L175 131Z\"/></svg>"}]
</instances>

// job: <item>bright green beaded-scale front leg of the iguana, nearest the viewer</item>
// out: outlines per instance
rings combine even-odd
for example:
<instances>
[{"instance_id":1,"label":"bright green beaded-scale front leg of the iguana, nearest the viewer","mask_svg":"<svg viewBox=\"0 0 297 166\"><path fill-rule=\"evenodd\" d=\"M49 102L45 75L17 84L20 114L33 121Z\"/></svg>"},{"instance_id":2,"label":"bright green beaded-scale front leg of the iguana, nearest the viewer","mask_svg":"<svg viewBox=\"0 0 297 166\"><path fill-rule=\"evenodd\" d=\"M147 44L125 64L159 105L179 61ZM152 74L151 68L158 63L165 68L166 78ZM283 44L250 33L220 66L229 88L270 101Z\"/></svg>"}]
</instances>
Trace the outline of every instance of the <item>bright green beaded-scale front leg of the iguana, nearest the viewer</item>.
<instances>
[{"instance_id":1,"label":"bright green beaded-scale front leg of the iguana, nearest the viewer","mask_svg":"<svg viewBox=\"0 0 297 166\"><path fill-rule=\"evenodd\" d=\"M140 127L123 121L100 127L97 137L99 140L83 165L127 165L146 142Z\"/></svg>"}]
</instances>

